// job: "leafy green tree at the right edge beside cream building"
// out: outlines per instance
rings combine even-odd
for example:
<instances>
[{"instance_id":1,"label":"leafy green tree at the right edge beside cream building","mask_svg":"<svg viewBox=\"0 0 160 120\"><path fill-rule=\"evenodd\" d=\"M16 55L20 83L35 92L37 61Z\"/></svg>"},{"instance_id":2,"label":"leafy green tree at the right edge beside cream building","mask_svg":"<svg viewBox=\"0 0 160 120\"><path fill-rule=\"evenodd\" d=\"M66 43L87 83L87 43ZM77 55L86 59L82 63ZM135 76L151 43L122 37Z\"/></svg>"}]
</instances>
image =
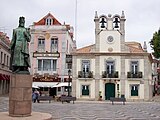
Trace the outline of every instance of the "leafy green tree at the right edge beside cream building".
<instances>
[{"instance_id":1,"label":"leafy green tree at the right edge beside cream building","mask_svg":"<svg viewBox=\"0 0 160 120\"><path fill-rule=\"evenodd\" d=\"M153 55L155 58L159 59L160 58L160 29L158 32L155 32L153 34L153 38L149 42L151 48L153 49Z\"/></svg>"}]
</instances>

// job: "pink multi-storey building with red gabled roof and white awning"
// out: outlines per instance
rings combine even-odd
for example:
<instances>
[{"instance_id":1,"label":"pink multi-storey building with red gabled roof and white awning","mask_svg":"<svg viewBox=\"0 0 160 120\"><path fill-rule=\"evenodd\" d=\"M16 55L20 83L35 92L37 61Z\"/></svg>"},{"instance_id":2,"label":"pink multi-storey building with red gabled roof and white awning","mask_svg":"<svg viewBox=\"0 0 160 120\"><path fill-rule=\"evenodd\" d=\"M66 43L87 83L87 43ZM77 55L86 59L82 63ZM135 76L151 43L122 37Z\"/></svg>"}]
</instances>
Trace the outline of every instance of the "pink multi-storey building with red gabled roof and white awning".
<instances>
[{"instance_id":1,"label":"pink multi-storey building with red gabled roof and white awning","mask_svg":"<svg viewBox=\"0 0 160 120\"><path fill-rule=\"evenodd\" d=\"M51 13L30 26L30 56L33 85L43 87L51 95L66 91L68 70L72 63L66 57L76 48L73 27L61 24ZM58 87L57 87L58 85ZM49 90L50 89L50 90Z\"/></svg>"}]
</instances>

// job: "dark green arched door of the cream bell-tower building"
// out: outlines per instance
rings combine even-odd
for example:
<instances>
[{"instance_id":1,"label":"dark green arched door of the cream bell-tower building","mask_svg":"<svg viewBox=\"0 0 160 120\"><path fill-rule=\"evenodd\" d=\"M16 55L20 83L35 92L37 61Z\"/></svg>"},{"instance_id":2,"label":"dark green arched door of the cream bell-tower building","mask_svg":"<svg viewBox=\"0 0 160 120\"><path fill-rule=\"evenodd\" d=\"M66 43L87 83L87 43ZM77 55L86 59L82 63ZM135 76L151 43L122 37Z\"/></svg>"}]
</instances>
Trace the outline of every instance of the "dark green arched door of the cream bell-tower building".
<instances>
[{"instance_id":1,"label":"dark green arched door of the cream bell-tower building","mask_svg":"<svg viewBox=\"0 0 160 120\"><path fill-rule=\"evenodd\" d=\"M115 84L114 83L105 84L105 100L110 100L110 97L115 97Z\"/></svg>"}]
</instances>

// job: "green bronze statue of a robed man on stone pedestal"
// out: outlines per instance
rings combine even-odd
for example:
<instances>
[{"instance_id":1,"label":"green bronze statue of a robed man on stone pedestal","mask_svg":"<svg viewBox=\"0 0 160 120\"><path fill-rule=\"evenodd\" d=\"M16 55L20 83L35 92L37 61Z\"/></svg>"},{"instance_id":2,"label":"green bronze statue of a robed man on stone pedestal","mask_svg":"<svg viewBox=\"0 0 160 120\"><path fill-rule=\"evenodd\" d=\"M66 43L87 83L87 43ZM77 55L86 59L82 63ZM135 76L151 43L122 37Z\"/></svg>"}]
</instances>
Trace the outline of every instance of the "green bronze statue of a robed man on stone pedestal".
<instances>
[{"instance_id":1,"label":"green bronze statue of a robed man on stone pedestal","mask_svg":"<svg viewBox=\"0 0 160 120\"><path fill-rule=\"evenodd\" d=\"M29 74L29 44L31 39L29 28L24 27L25 18L19 18L19 26L13 29L11 41L11 70L17 74Z\"/></svg>"}]
</instances>

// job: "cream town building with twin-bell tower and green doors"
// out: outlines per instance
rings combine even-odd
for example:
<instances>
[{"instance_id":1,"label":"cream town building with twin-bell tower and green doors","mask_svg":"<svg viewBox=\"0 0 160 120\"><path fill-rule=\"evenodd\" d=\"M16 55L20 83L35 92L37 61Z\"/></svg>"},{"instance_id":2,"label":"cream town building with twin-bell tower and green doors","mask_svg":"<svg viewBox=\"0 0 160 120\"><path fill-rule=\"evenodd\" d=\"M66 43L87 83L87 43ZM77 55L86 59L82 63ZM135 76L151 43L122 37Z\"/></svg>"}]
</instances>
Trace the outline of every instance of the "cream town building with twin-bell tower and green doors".
<instances>
[{"instance_id":1,"label":"cream town building with twin-bell tower and green doors","mask_svg":"<svg viewBox=\"0 0 160 120\"><path fill-rule=\"evenodd\" d=\"M95 44L72 53L72 95L78 99L148 100L152 56L138 42L125 41L125 15L95 13Z\"/></svg>"}]
</instances>

